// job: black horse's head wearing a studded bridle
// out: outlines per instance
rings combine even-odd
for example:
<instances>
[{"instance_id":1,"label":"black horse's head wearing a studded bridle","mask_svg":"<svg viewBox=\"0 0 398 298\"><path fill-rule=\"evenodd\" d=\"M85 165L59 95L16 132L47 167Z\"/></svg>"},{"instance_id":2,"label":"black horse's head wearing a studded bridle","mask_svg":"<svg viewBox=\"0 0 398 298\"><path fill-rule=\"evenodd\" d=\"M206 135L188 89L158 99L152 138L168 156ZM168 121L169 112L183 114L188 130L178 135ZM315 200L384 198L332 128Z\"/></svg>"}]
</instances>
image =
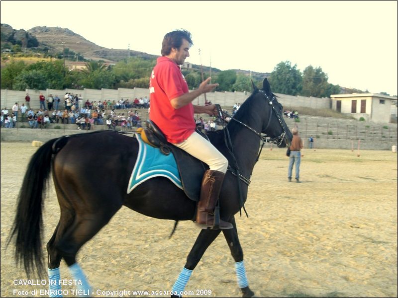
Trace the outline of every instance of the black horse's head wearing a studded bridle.
<instances>
[{"instance_id":1,"label":"black horse's head wearing a studded bridle","mask_svg":"<svg viewBox=\"0 0 398 298\"><path fill-rule=\"evenodd\" d=\"M263 81L262 89L258 89L254 84L253 89L252 96L256 97L256 100L264 100L265 103L262 105L265 108L260 113L262 117L261 133L266 134L278 147L286 147L292 142L293 135L283 119L283 106L271 92L267 78Z\"/></svg>"}]
</instances>

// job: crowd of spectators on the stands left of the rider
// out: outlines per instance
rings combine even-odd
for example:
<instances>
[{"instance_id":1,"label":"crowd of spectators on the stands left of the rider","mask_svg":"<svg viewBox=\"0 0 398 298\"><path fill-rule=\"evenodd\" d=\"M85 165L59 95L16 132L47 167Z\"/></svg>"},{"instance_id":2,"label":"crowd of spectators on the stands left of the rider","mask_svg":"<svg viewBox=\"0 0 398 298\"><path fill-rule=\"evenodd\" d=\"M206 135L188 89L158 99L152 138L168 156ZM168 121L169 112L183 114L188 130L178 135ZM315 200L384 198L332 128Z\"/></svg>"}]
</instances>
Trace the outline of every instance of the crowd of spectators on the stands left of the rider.
<instances>
[{"instance_id":1,"label":"crowd of spectators on the stands left of the rider","mask_svg":"<svg viewBox=\"0 0 398 298\"><path fill-rule=\"evenodd\" d=\"M28 96L28 94L26 94ZM93 130L95 125L106 125L108 129L132 130L140 127L141 119L137 110L126 113L117 113L117 110L131 108L149 108L147 97L136 98L133 102L128 99L118 101L84 101L81 95L65 93L63 104L61 99L50 94L47 99L43 94L39 96L40 109L34 111L25 103L18 103L12 107L11 112L6 107L1 110L1 127L15 128L16 122L27 122L30 128L48 128L50 123L76 124L78 130Z\"/></svg>"}]
</instances>

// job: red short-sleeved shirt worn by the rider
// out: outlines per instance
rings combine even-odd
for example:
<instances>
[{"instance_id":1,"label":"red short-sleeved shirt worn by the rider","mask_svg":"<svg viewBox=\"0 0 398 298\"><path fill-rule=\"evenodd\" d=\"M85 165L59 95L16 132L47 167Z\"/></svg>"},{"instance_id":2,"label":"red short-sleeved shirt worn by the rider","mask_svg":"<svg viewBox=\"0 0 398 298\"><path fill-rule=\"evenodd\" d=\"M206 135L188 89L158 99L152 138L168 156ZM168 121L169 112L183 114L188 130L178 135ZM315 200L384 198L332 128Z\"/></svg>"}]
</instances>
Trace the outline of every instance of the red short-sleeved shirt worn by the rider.
<instances>
[{"instance_id":1,"label":"red short-sleeved shirt worn by the rider","mask_svg":"<svg viewBox=\"0 0 398 298\"><path fill-rule=\"evenodd\" d=\"M195 132L193 104L174 109L170 103L173 98L188 92L188 84L179 66L167 57L159 57L149 84L149 118L159 126L170 143L181 143Z\"/></svg>"}]
</instances>

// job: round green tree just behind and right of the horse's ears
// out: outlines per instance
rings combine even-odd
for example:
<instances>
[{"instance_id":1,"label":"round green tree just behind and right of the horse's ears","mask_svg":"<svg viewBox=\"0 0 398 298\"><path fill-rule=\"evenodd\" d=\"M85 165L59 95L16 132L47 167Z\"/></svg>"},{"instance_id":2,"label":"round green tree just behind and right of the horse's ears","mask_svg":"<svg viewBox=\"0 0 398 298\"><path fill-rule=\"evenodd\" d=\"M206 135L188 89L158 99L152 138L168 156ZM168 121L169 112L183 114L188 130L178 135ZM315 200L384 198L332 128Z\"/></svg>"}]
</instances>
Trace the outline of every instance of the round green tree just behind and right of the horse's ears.
<instances>
[{"instance_id":1,"label":"round green tree just behind and right of the horse's ears","mask_svg":"<svg viewBox=\"0 0 398 298\"><path fill-rule=\"evenodd\" d=\"M280 62L269 78L271 89L275 93L297 95L302 88L301 73L290 61Z\"/></svg>"}]
</instances>

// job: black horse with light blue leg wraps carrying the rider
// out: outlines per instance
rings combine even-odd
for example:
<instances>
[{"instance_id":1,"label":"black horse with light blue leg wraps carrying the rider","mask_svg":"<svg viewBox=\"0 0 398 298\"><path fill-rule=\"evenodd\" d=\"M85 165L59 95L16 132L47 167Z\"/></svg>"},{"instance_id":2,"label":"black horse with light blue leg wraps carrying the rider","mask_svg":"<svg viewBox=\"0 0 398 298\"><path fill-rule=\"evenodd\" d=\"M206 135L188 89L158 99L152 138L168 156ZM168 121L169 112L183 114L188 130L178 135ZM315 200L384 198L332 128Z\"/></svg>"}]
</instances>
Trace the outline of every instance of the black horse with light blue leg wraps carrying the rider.
<instances>
[{"instance_id":1,"label":"black horse with light blue leg wraps carrying the rider","mask_svg":"<svg viewBox=\"0 0 398 298\"><path fill-rule=\"evenodd\" d=\"M283 119L282 105L271 92L268 81L264 80L262 89L254 85L253 87L252 95L242 104L228 125L210 135L214 146L228 158L232 167L234 163L239 166L240 174L247 180L247 184L241 182L238 186L235 170L230 169L219 197L220 217L233 225L232 229L222 232L232 257L239 264L236 271L243 297L251 297L254 293L247 283L243 251L234 219L234 215L242 207L239 197L243 198L243 202L246 201L250 182L248 179L258 158L260 141L271 140L278 147L286 147L293 138ZM227 135L225 133L230 135L234 154L231 154L231 149L224 142ZM189 200L183 190L164 177L147 180L131 193L126 193L137 154L138 144L135 138L111 131L53 139L36 151L23 180L9 238L11 240L15 237L16 260L23 264L28 275L35 270L39 274L44 271L41 254L42 194L50 171L61 214L54 234L47 243L49 278L50 281L59 278L59 265L61 259L64 259L74 278L82 281L80 286L83 295L90 294L89 286L76 263L76 254L83 244L109 222L122 205L157 219L187 221L194 218L196 202ZM109 173L115 174L108 175ZM107 178L103 180L105 176ZM219 229L203 229L199 232L180 277L184 276L184 271L192 272L195 269L207 247L220 232ZM180 277L176 284L180 282ZM189 276L183 287L176 289L183 289L188 279ZM61 294L60 285L51 285L50 282L51 289L55 291L52 295ZM180 295L173 292L171 294Z\"/></svg>"}]
</instances>

